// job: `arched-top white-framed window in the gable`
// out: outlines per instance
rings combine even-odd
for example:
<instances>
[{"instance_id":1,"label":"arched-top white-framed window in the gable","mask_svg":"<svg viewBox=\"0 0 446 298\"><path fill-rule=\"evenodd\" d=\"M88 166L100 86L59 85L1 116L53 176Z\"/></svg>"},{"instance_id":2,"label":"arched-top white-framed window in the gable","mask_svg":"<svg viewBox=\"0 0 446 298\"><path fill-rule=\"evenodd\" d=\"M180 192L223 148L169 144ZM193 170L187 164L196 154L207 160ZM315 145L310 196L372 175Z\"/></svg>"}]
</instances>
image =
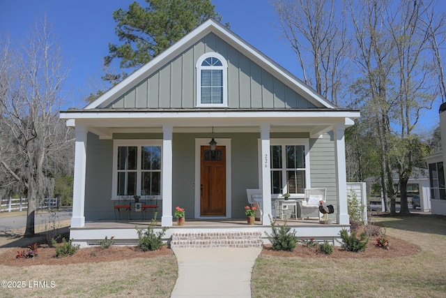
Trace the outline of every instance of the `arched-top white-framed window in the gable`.
<instances>
[{"instance_id":1,"label":"arched-top white-framed window in the gable","mask_svg":"<svg viewBox=\"0 0 446 298\"><path fill-rule=\"evenodd\" d=\"M227 107L227 63L211 52L197 60L197 107Z\"/></svg>"}]
</instances>

